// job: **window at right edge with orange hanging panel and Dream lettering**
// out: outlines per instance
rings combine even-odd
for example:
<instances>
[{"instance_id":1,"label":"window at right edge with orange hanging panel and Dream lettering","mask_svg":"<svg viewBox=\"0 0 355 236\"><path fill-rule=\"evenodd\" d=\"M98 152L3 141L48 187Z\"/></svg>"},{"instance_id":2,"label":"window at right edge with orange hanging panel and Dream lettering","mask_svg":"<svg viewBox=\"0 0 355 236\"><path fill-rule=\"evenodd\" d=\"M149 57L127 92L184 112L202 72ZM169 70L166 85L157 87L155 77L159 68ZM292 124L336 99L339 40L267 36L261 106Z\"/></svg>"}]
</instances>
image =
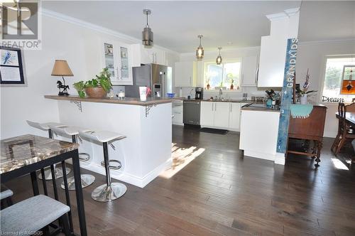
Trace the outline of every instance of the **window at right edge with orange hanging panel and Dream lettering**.
<instances>
[{"instance_id":1,"label":"window at right edge with orange hanging panel and Dream lettering","mask_svg":"<svg viewBox=\"0 0 355 236\"><path fill-rule=\"evenodd\" d=\"M352 68L354 68L354 73ZM351 102L355 97L355 58L329 57L325 66L322 102ZM352 77L354 76L354 80ZM354 82L353 82L354 81Z\"/></svg>"}]
</instances>

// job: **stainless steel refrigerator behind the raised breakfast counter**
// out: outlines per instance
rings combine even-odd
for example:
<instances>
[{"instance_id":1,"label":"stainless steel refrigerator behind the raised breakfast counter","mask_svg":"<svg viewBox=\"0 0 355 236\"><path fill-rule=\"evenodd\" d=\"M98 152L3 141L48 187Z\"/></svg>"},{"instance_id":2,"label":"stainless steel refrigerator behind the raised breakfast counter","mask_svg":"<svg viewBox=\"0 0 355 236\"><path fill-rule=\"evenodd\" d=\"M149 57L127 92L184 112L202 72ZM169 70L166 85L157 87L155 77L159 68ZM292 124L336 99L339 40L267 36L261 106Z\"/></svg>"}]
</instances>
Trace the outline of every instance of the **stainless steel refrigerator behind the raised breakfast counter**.
<instances>
[{"instance_id":1,"label":"stainless steel refrigerator behind the raised breakfast counter","mask_svg":"<svg viewBox=\"0 0 355 236\"><path fill-rule=\"evenodd\" d=\"M126 97L139 97L139 87L150 87L148 97L167 97L173 89L172 68L165 65L146 64L133 67L133 85L126 85Z\"/></svg>"}]
</instances>

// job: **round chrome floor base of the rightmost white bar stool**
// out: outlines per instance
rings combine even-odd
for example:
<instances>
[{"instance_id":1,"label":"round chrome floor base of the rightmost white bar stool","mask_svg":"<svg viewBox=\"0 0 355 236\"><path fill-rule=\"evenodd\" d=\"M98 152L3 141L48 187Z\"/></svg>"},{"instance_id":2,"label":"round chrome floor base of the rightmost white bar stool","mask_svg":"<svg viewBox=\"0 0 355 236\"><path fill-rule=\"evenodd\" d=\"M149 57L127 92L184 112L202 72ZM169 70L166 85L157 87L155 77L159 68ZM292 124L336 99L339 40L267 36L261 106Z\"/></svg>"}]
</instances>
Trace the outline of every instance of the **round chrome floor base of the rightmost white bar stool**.
<instances>
[{"instance_id":1,"label":"round chrome floor base of the rightmost white bar stool","mask_svg":"<svg viewBox=\"0 0 355 236\"><path fill-rule=\"evenodd\" d=\"M126 191L127 187L123 183L111 183L109 186L103 184L92 191L91 197L98 202L111 202L120 198Z\"/></svg>"}]
</instances>

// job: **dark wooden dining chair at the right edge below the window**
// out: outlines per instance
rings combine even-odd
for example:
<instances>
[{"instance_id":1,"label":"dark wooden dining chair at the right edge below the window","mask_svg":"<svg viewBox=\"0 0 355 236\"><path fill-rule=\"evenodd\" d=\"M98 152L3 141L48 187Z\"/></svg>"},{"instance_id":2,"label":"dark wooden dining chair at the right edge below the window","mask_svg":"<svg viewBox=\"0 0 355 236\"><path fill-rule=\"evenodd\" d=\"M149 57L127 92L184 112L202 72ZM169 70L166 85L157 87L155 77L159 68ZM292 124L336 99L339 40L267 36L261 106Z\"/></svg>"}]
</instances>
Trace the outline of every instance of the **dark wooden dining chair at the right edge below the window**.
<instances>
[{"instance_id":1,"label":"dark wooden dining chair at the right edge below the window","mask_svg":"<svg viewBox=\"0 0 355 236\"><path fill-rule=\"evenodd\" d=\"M342 149L344 146L346 140L354 140L355 139L355 134L354 134L354 128L351 127L349 124L346 124L346 112L352 112L355 111L355 103L351 103L349 105L344 105L342 103L339 105L339 127L340 127L340 134L338 137L337 144L334 146L335 151L334 154L337 156L339 154L339 151Z\"/></svg>"}]
</instances>

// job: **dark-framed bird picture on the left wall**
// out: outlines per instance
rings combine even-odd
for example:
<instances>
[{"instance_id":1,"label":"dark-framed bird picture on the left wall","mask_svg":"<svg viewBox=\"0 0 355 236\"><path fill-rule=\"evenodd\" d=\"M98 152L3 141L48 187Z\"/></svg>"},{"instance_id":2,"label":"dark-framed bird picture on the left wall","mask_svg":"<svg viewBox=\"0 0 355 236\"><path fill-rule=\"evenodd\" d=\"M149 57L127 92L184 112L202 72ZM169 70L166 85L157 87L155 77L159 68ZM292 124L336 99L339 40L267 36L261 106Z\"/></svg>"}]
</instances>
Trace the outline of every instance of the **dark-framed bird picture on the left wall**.
<instances>
[{"instance_id":1,"label":"dark-framed bird picture on the left wall","mask_svg":"<svg viewBox=\"0 0 355 236\"><path fill-rule=\"evenodd\" d=\"M26 85L20 48L0 46L0 85Z\"/></svg>"}]
</instances>

